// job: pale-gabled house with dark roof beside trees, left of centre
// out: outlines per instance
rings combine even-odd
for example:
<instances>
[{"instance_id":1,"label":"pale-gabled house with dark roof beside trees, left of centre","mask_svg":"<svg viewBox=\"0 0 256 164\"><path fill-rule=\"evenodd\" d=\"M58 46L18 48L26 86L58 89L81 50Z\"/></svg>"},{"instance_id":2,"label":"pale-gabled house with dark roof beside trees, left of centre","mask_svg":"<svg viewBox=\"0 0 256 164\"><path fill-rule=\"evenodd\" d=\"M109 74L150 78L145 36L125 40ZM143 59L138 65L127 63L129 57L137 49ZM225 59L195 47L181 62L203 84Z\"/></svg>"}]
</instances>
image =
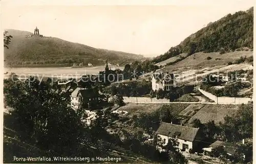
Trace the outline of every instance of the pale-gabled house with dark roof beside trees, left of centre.
<instances>
[{"instance_id":1,"label":"pale-gabled house with dark roof beside trees, left of centre","mask_svg":"<svg viewBox=\"0 0 256 164\"><path fill-rule=\"evenodd\" d=\"M87 89L77 87L71 93L71 106L77 110L80 105L86 109L95 108L99 102L100 93L97 89ZM82 104L80 104L82 103Z\"/></svg>"}]
</instances>

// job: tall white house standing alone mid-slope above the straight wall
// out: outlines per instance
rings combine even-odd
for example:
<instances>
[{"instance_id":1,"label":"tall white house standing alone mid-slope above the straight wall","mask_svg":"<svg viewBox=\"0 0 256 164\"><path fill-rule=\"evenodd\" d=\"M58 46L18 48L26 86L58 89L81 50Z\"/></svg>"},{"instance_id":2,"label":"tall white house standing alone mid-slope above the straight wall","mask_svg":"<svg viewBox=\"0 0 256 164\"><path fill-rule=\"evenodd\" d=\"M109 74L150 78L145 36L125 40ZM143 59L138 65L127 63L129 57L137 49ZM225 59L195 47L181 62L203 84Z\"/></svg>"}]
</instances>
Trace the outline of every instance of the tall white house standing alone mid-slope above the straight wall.
<instances>
[{"instance_id":1,"label":"tall white house standing alone mid-slope above the straight wall","mask_svg":"<svg viewBox=\"0 0 256 164\"><path fill-rule=\"evenodd\" d=\"M156 73L152 75L151 79L153 90L172 90L176 87L174 74Z\"/></svg>"}]
</instances>

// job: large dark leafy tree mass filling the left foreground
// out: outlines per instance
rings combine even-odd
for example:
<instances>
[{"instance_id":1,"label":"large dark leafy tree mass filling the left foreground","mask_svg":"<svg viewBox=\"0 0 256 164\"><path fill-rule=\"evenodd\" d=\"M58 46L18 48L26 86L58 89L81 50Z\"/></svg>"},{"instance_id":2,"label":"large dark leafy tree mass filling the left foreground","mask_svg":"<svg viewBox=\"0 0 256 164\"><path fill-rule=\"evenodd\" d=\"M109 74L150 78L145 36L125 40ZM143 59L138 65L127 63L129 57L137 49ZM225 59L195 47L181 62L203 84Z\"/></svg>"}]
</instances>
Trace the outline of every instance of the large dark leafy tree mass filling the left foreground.
<instances>
[{"instance_id":1,"label":"large dark leafy tree mass filling the left foreground","mask_svg":"<svg viewBox=\"0 0 256 164\"><path fill-rule=\"evenodd\" d=\"M21 140L34 140L36 146L51 153L82 153L79 148L88 140L87 128L59 93L49 91L47 82L33 77L25 82L9 79L4 87L7 105L19 121L16 126L21 129Z\"/></svg>"}]
</instances>

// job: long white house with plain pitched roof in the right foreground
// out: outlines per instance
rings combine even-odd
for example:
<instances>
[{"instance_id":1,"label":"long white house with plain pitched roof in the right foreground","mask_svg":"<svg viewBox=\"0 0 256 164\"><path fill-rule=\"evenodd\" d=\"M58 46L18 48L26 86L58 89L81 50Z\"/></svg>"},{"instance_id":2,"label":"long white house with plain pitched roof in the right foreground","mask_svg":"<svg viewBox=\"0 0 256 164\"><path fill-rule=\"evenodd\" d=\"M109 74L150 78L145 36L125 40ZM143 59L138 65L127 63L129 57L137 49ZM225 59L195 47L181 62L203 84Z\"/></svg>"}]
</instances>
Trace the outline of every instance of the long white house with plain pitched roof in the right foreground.
<instances>
[{"instance_id":1,"label":"long white house with plain pitched roof in the right foreground","mask_svg":"<svg viewBox=\"0 0 256 164\"><path fill-rule=\"evenodd\" d=\"M177 138L180 150L188 152L189 149L194 149L199 143L200 136L198 131L199 128L162 122L156 131L156 134L158 139L161 139L164 142L163 145L167 145L170 138Z\"/></svg>"}]
</instances>

